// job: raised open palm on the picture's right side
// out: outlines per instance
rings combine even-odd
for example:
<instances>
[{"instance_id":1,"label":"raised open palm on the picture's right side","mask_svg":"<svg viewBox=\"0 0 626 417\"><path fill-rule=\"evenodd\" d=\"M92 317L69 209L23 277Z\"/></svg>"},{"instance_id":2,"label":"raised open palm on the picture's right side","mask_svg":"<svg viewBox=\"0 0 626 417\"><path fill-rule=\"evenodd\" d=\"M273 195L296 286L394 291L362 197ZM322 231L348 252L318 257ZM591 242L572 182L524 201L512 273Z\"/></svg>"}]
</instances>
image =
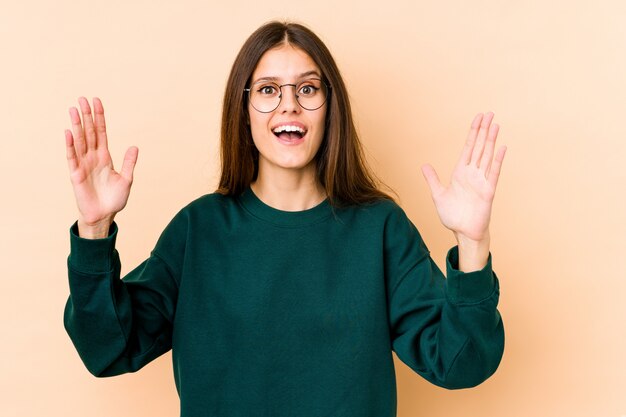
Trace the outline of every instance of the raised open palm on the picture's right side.
<instances>
[{"instance_id":1,"label":"raised open palm on the picture's right side","mask_svg":"<svg viewBox=\"0 0 626 417\"><path fill-rule=\"evenodd\" d=\"M426 164L422 173L430 188L437 214L459 244L489 245L489 220L506 147L495 154L499 126L491 124L493 113L474 117L467 141L448 186Z\"/></svg>"}]
</instances>

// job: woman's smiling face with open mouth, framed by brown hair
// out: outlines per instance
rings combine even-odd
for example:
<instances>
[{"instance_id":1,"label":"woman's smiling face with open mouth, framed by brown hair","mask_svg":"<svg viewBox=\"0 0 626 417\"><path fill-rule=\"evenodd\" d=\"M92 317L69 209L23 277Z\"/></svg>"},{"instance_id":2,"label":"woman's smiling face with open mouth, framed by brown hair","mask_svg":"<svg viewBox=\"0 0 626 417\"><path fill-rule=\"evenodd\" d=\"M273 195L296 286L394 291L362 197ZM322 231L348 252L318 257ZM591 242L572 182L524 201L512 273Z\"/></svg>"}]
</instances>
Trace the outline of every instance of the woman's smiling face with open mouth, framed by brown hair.
<instances>
[{"instance_id":1,"label":"woman's smiling face with open mouth, framed by brown hair","mask_svg":"<svg viewBox=\"0 0 626 417\"><path fill-rule=\"evenodd\" d=\"M315 155L324 138L326 102L317 110L305 110L296 101L296 87L284 84L298 85L321 78L322 73L313 59L292 45L282 44L270 49L259 60L250 88L257 93L262 89L267 97L273 88L267 88L265 81L283 85L282 99L274 111L261 113L250 102L248 104L250 130L259 151L259 175L270 170L315 173ZM303 83L299 94L302 97L312 91Z\"/></svg>"}]
</instances>

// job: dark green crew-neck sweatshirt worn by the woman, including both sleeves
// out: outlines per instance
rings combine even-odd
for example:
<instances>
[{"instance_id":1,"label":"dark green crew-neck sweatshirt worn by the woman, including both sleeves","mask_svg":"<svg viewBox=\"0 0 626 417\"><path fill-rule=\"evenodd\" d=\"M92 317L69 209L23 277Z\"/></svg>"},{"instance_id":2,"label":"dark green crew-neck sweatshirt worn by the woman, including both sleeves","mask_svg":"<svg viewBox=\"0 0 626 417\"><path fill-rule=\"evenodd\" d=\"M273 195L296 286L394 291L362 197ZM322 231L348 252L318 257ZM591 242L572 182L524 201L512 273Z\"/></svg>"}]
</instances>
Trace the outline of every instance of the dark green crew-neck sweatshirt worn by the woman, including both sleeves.
<instances>
[{"instance_id":1,"label":"dark green crew-neck sweatshirt worn by the woman, including both sleeves","mask_svg":"<svg viewBox=\"0 0 626 417\"><path fill-rule=\"evenodd\" d=\"M182 417L390 417L392 350L442 387L477 385L504 347L487 266L447 279L391 201L305 211L248 189L182 209L120 279L117 226L71 229L65 327L96 376L172 349Z\"/></svg>"}]
</instances>

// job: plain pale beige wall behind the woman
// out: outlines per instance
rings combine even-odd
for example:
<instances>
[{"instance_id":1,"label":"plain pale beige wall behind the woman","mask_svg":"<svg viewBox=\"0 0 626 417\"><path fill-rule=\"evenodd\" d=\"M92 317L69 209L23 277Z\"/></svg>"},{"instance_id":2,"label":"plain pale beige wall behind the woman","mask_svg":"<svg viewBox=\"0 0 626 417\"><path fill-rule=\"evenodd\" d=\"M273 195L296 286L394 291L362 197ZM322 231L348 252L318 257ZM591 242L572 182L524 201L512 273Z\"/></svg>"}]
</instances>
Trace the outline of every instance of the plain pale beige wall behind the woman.
<instances>
[{"instance_id":1,"label":"plain pale beige wall behind the woman","mask_svg":"<svg viewBox=\"0 0 626 417\"><path fill-rule=\"evenodd\" d=\"M118 217L125 271L171 216L211 192L220 101L239 47L272 18L308 24L334 53L376 172L442 265L420 164L447 177L475 113L508 145L492 222L507 332L472 390L397 361L400 417L626 415L626 2L2 0L2 416L175 416L170 356L95 379L62 325L67 109L102 98L114 160L140 149Z\"/></svg>"}]
</instances>

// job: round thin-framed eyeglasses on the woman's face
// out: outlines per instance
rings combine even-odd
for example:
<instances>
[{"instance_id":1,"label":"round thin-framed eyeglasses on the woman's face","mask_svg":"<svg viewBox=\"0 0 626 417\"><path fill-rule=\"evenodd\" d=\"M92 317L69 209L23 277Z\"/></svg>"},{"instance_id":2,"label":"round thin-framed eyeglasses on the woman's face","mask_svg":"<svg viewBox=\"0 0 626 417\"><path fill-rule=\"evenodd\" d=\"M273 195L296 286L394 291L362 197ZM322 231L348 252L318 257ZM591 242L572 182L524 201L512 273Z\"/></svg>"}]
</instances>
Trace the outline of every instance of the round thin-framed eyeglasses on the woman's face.
<instances>
[{"instance_id":1,"label":"round thin-framed eyeglasses on the woman's face","mask_svg":"<svg viewBox=\"0 0 626 417\"><path fill-rule=\"evenodd\" d=\"M261 113L270 113L278 108L283 97L283 87L294 87L296 101L305 110L317 110L324 105L328 98L330 86L317 78L310 78L298 84L278 85L271 81L257 81L250 88L244 88L248 93L250 104Z\"/></svg>"}]
</instances>

